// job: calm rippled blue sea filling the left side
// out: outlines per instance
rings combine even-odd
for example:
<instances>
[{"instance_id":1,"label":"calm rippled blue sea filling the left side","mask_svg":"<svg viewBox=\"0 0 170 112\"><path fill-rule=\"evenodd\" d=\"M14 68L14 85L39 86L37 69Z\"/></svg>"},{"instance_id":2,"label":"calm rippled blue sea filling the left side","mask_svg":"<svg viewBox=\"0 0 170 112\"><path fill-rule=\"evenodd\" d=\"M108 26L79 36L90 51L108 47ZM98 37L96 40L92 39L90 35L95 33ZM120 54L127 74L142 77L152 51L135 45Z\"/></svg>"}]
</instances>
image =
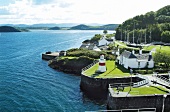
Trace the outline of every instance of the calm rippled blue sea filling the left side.
<instances>
[{"instance_id":1,"label":"calm rippled blue sea filling the left side","mask_svg":"<svg viewBox=\"0 0 170 112\"><path fill-rule=\"evenodd\" d=\"M84 112L105 109L80 91L80 76L48 67L46 51L77 48L102 31L0 34L0 112Z\"/></svg>"}]
</instances>

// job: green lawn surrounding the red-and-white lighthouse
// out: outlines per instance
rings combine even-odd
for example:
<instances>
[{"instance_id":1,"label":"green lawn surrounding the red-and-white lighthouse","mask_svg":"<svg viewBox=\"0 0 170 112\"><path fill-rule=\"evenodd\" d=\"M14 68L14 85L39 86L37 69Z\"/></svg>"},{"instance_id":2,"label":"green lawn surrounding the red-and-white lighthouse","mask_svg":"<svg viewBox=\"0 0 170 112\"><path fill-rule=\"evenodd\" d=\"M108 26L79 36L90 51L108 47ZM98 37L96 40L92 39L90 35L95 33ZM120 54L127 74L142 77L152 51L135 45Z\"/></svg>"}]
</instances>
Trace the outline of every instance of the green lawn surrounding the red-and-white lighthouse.
<instances>
[{"instance_id":1,"label":"green lawn surrounding the red-and-white lighthouse","mask_svg":"<svg viewBox=\"0 0 170 112\"><path fill-rule=\"evenodd\" d=\"M95 64L90 69L84 72L85 75L95 77L95 78L113 78L113 77L127 77L130 76L129 70L123 68L120 65L115 66L114 61L106 61L107 71L104 73L96 73L99 65Z\"/></svg>"}]
</instances>

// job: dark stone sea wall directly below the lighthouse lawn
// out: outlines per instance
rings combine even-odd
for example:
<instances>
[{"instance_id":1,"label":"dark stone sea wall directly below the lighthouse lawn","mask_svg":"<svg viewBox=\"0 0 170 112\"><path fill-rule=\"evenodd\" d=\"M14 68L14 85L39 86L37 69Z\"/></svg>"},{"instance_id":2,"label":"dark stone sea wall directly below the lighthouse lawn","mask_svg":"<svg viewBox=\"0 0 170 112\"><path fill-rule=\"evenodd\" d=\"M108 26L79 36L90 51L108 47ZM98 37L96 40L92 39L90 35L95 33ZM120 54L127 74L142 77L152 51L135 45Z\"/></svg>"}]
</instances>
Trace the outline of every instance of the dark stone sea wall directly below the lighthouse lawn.
<instances>
[{"instance_id":1,"label":"dark stone sea wall directly below the lighthouse lawn","mask_svg":"<svg viewBox=\"0 0 170 112\"><path fill-rule=\"evenodd\" d=\"M86 96L94 99L107 99L109 84L111 83L129 83L130 77L124 78L93 78L81 75L80 88ZM141 79L132 77L132 82L138 82Z\"/></svg>"}]
</instances>

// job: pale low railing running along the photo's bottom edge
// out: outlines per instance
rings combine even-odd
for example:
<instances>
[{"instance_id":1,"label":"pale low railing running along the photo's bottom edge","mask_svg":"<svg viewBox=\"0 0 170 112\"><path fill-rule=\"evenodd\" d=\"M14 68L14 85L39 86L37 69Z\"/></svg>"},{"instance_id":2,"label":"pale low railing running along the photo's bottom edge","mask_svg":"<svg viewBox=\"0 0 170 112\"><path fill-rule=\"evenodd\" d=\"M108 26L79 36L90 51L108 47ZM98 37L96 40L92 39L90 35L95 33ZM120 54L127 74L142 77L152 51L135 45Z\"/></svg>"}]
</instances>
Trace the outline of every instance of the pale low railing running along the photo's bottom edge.
<instances>
[{"instance_id":1,"label":"pale low railing running along the photo's bottom edge","mask_svg":"<svg viewBox=\"0 0 170 112\"><path fill-rule=\"evenodd\" d=\"M85 112L156 112L156 108L140 108L140 109L121 109L121 110L98 110Z\"/></svg>"}]
</instances>

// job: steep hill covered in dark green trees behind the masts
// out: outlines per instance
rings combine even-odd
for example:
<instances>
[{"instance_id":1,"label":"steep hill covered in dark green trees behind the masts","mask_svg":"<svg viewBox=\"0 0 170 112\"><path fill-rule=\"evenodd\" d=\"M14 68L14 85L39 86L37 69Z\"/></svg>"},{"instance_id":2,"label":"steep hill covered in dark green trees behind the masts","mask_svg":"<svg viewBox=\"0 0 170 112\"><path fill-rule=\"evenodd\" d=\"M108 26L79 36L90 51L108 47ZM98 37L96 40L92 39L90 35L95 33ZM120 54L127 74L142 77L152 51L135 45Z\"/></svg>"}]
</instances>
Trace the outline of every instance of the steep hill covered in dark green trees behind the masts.
<instances>
[{"instance_id":1,"label":"steep hill covered in dark green trees behind the masts","mask_svg":"<svg viewBox=\"0 0 170 112\"><path fill-rule=\"evenodd\" d=\"M156 12L148 12L145 15L138 15L126 20L116 29L117 40L134 41L135 43L162 41L170 43L170 5L159 9Z\"/></svg>"}]
</instances>

